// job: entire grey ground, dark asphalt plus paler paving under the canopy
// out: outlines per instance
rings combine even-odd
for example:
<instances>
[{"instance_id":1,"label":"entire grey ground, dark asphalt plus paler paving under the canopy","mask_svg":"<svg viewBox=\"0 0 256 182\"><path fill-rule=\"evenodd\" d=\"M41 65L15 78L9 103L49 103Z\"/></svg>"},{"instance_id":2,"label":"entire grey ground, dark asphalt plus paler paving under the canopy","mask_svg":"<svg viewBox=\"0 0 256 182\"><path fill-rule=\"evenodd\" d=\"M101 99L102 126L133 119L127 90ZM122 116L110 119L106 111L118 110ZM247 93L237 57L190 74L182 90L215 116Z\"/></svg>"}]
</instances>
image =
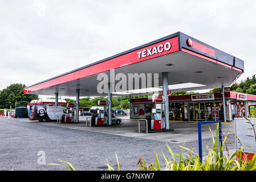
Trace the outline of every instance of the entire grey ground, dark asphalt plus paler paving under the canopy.
<instances>
[{"instance_id":1,"label":"entire grey ground, dark asphalt plus paler paving under the canopy","mask_svg":"<svg viewBox=\"0 0 256 182\"><path fill-rule=\"evenodd\" d=\"M144 158L148 164L155 163L154 151L160 164L164 164L161 149L169 154L166 142L178 154L184 142L185 147L198 152L197 123L172 122L174 131L151 134L137 133L137 124L137 121L123 120L121 125L90 128L85 127L85 122L57 124L27 118L1 118L0 170L63 170L60 166L46 165L58 163L58 159L70 162L76 170L85 171L107 170L107 159L117 169L115 153L121 170L135 170L139 158ZM216 131L213 124L202 127L203 147L212 144L209 127L213 135ZM229 134L227 147L234 150L234 125L222 125L222 130ZM207 152L206 148L203 150Z\"/></svg>"}]
</instances>

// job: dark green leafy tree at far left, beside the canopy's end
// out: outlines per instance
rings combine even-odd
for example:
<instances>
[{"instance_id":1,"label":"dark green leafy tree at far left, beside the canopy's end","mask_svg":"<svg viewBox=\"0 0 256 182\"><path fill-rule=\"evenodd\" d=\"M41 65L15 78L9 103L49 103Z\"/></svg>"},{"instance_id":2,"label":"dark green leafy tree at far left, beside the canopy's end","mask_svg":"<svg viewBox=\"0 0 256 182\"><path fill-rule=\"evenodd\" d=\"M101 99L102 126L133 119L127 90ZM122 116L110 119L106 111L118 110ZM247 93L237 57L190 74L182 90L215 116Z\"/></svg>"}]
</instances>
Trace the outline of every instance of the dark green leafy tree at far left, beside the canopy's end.
<instances>
[{"instance_id":1,"label":"dark green leafy tree at far left, beside the canopy's end","mask_svg":"<svg viewBox=\"0 0 256 182\"><path fill-rule=\"evenodd\" d=\"M31 100L38 100L37 95L23 94L24 84L11 84L3 89L0 93L0 108L14 107L17 102L17 107L26 106Z\"/></svg>"}]
</instances>

